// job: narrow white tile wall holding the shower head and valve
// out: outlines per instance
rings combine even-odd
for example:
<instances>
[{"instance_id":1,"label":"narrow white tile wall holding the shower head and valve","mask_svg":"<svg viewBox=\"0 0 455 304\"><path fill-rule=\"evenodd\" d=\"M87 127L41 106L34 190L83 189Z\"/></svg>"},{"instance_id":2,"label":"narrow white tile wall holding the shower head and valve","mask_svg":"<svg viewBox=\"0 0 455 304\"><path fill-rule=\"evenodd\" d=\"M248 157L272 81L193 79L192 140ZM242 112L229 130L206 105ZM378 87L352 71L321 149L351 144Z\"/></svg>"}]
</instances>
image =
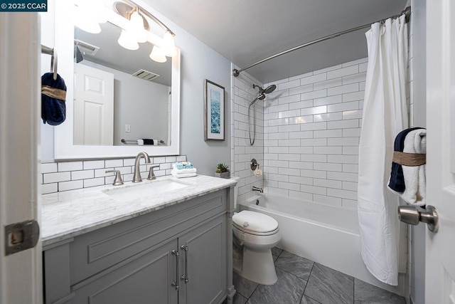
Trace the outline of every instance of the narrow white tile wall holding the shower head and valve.
<instances>
[{"instance_id":1,"label":"narrow white tile wall holding the shower head and valve","mask_svg":"<svg viewBox=\"0 0 455 304\"><path fill-rule=\"evenodd\" d=\"M237 68L232 65L232 69ZM238 77L232 76L231 87L231 108L232 108L232 143L231 143L231 171L232 174L240 177L237 184L239 193L238 201L244 201L253 195L252 186L263 187L262 176L256 177L250 169L251 159L255 158L259 168L264 165L264 103L268 103L268 97L257 103L250 110L250 120L253 122L253 111L256 115L256 137L254 145L250 145L248 130L248 106L255 100L257 90L253 84L261 85L257 79L242 72ZM251 133L253 127L251 127Z\"/></svg>"}]
</instances>

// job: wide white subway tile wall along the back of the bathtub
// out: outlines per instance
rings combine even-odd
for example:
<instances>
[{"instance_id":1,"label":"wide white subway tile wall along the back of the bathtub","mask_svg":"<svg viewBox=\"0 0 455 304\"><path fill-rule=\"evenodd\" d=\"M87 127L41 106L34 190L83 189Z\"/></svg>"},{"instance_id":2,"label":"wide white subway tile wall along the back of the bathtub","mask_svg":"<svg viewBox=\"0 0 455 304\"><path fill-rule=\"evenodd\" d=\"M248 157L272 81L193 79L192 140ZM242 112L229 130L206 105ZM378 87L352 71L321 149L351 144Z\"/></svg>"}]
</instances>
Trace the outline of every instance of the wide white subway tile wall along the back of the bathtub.
<instances>
[{"instance_id":1,"label":"wide white subway tile wall along the back of the bathtub","mask_svg":"<svg viewBox=\"0 0 455 304\"><path fill-rule=\"evenodd\" d=\"M264 108L265 191L357 207L367 65L363 58L274 83Z\"/></svg>"}]
</instances>

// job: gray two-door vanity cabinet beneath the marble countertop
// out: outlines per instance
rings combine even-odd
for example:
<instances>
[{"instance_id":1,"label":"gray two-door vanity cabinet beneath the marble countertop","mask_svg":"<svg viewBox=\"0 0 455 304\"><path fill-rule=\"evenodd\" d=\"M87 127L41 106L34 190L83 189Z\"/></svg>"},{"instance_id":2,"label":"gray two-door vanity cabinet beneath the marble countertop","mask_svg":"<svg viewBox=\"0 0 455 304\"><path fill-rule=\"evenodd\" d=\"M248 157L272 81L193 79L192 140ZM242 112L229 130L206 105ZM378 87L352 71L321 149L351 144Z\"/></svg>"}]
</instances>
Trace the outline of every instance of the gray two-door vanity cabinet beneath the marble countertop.
<instances>
[{"instance_id":1,"label":"gray two-door vanity cabinet beneath the marble countertop","mask_svg":"<svg viewBox=\"0 0 455 304\"><path fill-rule=\"evenodd\" d=\"M230 192L45 246L45 303L222 303L233 295Z\"/></svg>"}]
</instances>

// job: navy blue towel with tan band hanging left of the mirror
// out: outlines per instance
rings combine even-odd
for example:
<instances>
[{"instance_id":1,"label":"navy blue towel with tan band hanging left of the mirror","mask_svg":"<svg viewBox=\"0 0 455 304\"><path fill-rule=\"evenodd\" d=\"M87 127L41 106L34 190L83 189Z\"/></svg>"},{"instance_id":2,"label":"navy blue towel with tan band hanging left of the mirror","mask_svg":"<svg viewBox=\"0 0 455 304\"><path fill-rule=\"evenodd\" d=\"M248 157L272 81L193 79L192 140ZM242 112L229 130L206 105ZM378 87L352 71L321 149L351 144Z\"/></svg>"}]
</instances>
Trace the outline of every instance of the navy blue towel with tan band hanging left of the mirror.
<instances>
[{"instance_id":1,"label":"navy blue towel with tan band hanging left of the mirror","mask_svg":"<svg viewBox=\"0 0 455 304\"><path fill-rule=\"evenodd\" d=\"M66 118L66 85L63 78L53 73L41 76L41 118L49 125L60 125Z\"/></svg>"}]
</instances>

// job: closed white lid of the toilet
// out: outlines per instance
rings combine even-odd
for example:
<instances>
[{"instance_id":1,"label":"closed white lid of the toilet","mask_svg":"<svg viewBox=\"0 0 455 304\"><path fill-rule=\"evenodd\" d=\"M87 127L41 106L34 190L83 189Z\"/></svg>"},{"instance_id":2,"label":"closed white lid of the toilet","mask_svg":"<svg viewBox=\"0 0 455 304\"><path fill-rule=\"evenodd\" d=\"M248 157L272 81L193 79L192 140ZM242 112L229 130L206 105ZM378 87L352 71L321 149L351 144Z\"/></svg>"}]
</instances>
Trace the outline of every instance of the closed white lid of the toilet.
<instances>
[{"instance_id":1,"label":"closed white lid of the toilet","mask_svg":"<svg viewBox=\"0 0 455 304\"><path fill-rule=\"evenodd\" d=\"M278 229L278 222L271 216L248 210L234 214L232 222L246 232L270 232Z\"/></svg>"}]
</instances>

